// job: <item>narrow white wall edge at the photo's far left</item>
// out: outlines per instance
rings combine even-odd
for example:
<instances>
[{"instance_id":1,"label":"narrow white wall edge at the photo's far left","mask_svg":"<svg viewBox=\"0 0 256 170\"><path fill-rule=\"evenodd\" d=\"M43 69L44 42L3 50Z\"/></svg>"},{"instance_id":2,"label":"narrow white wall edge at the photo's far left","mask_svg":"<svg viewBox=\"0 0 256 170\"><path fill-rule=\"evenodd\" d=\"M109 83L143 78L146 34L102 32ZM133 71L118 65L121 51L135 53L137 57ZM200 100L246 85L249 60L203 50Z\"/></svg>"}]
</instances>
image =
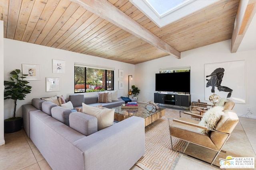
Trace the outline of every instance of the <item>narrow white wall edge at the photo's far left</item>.
<instances>
[{"instance_id":1,"label":"narrow white wall edge at the photo's far left","mask_svg":"<svg viewBox=\"0 0 256 170\"><path fill-rule=\"evenodd\" d=\"M0 21L0 145L4 145L4 21Z\"/></svg>"}]
</instances>

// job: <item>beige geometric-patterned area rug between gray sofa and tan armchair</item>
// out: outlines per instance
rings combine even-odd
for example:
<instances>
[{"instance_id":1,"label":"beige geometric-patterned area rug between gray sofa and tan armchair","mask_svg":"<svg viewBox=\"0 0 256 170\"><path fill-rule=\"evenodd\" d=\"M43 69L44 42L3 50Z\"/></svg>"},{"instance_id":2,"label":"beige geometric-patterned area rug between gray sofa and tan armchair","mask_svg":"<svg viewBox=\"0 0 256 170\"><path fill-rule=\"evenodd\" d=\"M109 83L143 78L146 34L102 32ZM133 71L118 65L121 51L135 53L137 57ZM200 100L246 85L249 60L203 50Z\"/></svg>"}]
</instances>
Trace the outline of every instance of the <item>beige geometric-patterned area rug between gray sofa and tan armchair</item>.
<instances>
[{"instance_id":1,"label":"beige geometric-patterned area rug between gray sofa and tan armchair","mask_svg":"<svg viewBox=\"0 0 256 170\"><path fill-rule=\"evenodd\" d=\"M143 170L172 170L181 154L171 148L168 118L178 119L179 111L165 109L165 115L145 127L145 154L137 161L136 166ZM184 116L182 116L184 117ZM173 138L173 144L183 148L184 141Z\"/></svg>"}]
</instances>

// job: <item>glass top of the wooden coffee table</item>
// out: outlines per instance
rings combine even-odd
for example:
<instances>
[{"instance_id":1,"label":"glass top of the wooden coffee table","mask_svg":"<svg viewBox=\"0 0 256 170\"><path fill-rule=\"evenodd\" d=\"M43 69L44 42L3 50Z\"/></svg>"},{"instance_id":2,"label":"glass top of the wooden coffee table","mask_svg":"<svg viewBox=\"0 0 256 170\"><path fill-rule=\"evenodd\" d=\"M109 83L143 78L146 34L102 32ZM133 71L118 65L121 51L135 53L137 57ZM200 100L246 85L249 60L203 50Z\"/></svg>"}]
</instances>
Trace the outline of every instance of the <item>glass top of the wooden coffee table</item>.
<instances>
[{"instance_id":1,"label":"glass top of the wooden coffee table","mask_svg":"<svg viewBox=\"0 0 256 170\"><path fill-rule=\"evenodd\" d=\"M151 115L154 115L155 113L158 113L159 111L164 110L164 108L159 108L159 110L156 109L154 106L145 106L145 105L138 105L138 108L125 108L122 109L122 106L114 107L112 109L115 109L115 113L126 115L126 116L137 116L146 118Z\"/></svg>"}]
</instances>

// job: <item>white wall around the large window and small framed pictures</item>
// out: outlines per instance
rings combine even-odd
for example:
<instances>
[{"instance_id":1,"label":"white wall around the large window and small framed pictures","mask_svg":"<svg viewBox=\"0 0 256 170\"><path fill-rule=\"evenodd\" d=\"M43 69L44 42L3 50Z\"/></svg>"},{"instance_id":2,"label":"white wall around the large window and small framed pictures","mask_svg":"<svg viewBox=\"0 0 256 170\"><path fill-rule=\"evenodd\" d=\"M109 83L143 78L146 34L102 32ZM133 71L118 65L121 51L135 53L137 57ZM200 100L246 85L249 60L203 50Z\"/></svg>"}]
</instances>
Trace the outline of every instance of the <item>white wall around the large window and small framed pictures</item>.
<instances>
[{"instance_id":1,"label":"white wall around the large window and small framed pictures","mask_svg":"<svg viewBox=\"0 0 256 170\"><path fill-rule=\"evenodd\" d=\"M52 59L66 61L66 74L52 73ZM32 92L27 94L25 100L19 100L17 102L16 116L22 115L20 106L29 104L32 98L50 97L54 95L63 95L65 98L68 98L69 94L74 94L75 62L115 68L114 89L118 90L118 81L124 81L124 89L118 90L118 96L128 96L128 75L134 75L133 64L4 39L4 80L9 80L12 70L22 70L22 64L39 64L41 66L41 80L30 80L28 85L32 86ZM118 69L124 70L124 78L118 78ZM59 92L46 92L46 77L60 77ZM132 80L130 84L131 82ZM85 96L96 96L97 94L97 92L84 93ZM13 100L4 100L4 119L12 117L13 105Z\"/></svg>"}]
</instances>

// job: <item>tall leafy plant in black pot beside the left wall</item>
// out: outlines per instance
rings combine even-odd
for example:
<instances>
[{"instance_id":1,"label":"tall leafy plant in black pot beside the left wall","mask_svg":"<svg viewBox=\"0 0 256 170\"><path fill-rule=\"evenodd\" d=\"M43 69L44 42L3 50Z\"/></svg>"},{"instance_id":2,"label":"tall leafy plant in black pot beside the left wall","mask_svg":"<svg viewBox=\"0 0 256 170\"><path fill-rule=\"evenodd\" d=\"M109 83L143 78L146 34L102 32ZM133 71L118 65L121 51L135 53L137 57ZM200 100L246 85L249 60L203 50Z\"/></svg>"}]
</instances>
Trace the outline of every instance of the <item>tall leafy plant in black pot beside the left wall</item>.
<instances>
[{"instance_id":1,"label":"tall leafy plant in black pot beside the left wall","mask_svg":"<svg viewBox=\"0 0 256 170\"><path fill-rule=\"evenodd\" d=\"M27 80L23 80L28 74L22 74L19 69L13 70L10 74L11 81L4 81L4 100L14 100L14 112L13 117L4 120L4 133L16 132L22 128L22 117L16 117L17 100L24 100L32 88L27 85Z\"/></svg>"}]
</instances>

